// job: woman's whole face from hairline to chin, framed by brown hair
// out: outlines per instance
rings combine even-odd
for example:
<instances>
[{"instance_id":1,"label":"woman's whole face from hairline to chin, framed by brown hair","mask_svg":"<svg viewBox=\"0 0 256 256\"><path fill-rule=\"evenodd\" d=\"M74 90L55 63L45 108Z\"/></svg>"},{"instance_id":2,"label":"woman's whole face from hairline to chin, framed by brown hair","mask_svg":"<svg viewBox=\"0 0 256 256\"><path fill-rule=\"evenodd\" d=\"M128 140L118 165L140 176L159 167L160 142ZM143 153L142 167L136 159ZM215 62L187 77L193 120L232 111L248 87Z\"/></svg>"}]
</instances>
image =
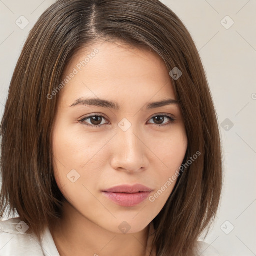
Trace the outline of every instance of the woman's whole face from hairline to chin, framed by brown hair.
<instances>
[{"instance_id":1,"label":"woman's whole face from hairline to chin, framed by brown hair","mask_svg":"<svg viewBox=\"0 0 256 256\"><path fill-rule=\"evenodd\" d=\"M73 56L63 81L52 130L60 191L102 228L141 231L170 196L187 148L164 62L121 42L97 42Z\"/></svg>"}]
</instances>

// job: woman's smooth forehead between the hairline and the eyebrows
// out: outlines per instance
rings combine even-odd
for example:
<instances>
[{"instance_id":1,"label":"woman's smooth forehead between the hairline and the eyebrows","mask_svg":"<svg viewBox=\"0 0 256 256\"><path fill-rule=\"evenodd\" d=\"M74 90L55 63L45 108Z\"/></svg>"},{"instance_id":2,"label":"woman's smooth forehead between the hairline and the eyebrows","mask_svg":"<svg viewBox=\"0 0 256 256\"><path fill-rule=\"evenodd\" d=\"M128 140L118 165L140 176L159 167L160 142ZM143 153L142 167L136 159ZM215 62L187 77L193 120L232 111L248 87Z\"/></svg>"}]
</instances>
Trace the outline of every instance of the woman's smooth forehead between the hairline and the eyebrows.
<instances>
[{"instance_id":1,"label":"woman's smooth forehead between the hairline and the eyebrows","mask_svg":"<svg viewBox=\"0 0 256 256\"><path fill-rule=\"evenodd\" d=\"M65 67L61 90L65 100L98 96L119 100L175 98L163 60L152 51L122 42L97 42L76 52Z\"/></svg>"}]
</instances>

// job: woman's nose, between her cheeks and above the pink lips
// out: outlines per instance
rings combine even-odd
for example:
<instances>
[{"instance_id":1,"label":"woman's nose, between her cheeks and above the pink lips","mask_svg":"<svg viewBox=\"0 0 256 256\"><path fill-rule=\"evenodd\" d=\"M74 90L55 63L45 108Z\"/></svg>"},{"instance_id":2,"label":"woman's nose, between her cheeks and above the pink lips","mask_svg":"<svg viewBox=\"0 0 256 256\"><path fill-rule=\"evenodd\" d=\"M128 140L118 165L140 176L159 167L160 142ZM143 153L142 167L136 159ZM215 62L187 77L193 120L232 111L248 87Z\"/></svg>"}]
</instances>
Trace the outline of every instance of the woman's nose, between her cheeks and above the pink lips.
<instances>
[{"instance_id":1,"label":"woman's nose, between her cheeks and above the pink lips","mask_svg":"<svg viewBox=\"0 0 256 256\"><path fill-rule=\"evenodd\" d=\"M110 165L112 168L126 172L140 172L148 167L146 145L143 136L131 126L127 131L117 129L112 141Z\"/></svg>"}]
</instances>

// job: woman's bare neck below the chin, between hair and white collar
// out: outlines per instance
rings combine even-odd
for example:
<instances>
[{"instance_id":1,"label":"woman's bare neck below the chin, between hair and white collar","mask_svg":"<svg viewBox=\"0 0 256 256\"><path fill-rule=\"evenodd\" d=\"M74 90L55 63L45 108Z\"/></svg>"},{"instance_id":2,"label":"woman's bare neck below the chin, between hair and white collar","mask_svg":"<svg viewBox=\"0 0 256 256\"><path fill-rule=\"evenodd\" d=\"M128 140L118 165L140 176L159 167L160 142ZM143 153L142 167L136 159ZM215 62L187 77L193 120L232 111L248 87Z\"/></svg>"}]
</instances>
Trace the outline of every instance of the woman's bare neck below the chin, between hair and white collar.
<instances>
[{"instance_id":1,"label":"woman's bare neck below the chin, between hair and white collar","mask_svg":"<svg viewBox=\"0 0 256 256\"><path fill-rule=\"evenodd\" d=\"M148 239L152 224L132 234L108 231L81 215L70 204L64 204L64 214L52 221L50 232L60 256L145 256L150 254ZM150 228L151 227L151 228Z\"/></svg>"}]
</instances>

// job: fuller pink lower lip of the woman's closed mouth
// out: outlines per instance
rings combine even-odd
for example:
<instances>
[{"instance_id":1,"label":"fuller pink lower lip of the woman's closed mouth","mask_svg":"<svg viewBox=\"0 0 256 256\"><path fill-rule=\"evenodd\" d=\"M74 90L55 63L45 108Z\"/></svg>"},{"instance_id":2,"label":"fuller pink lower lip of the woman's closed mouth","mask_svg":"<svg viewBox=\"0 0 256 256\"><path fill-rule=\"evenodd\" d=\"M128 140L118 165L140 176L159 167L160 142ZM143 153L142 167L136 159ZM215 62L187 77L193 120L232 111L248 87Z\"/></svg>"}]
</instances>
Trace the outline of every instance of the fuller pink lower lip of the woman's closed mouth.
<instances>
[{"instance_id":1,"label":"fuller pink lower lip of the woman's closed mouth","mask_svg":"<svg viewBox=\"0 0 256 256\"><path fill-rule=\"evenodd\" d=\"M131 207L144 201L150 192L138 192L138 193L113 193L102 192L108 199L112 200L118 205Z\"/></svg>"}]
</instances>

